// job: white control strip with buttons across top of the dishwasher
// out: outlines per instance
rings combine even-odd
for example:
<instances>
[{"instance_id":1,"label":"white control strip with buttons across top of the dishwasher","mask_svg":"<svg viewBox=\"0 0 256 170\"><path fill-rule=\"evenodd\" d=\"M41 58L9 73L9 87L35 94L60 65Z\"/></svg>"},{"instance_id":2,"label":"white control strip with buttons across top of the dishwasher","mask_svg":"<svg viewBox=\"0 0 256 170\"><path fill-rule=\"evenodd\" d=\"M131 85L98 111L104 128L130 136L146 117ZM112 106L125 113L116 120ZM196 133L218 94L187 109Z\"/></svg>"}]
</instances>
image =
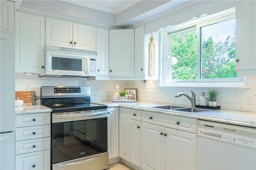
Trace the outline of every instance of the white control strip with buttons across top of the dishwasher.
<instances>
[{"instance_id":1,"label":"white control strip with buttons across top of the dishwasher","mask_svg":"<svg viewBox=\"0 0 256 170\"><path fill-rule=\"evenodd\" d=\"M198 135L256 149L256 137L251 135L237 135L226 133L225 131L214 131L208 128L199 128Z\"/></svg>"}]
</instances>

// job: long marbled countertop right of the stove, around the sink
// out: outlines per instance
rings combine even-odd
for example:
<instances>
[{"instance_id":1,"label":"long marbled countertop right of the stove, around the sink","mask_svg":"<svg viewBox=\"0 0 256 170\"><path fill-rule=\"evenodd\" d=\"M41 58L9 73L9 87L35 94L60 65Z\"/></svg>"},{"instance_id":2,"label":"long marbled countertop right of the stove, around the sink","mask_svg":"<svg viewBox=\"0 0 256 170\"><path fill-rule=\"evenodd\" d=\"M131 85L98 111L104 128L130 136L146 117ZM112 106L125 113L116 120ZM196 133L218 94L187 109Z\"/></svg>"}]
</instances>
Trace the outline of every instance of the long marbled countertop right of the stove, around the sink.
<instances>
[{"instance_id":1,"label":"long marbled countertop right of the stove, around the sink","mask_svg":"<svg viewBox=\"0 0 256 170\"><path fill-rule=\"evenodd\" d=\"M134 103L124 103L124 102L97 102L98 104L104 104L108 107L124 107L132 109L141 109L145 111L153 111L162 114L171 114L182 117L191 117L202 120L209 120L220 123L227 123L233 125L241 125L247 127L256 128L256 113L252 112L241 112L241 111L231 111L231 110L210 110L206 112L182 112L176 110L163 110L157 108L151 108L155 106L166 106L169 104L158 104L158 103L146 103L146 102L134 102ZM186 106L184 106L186 107Z\"/></svg>"}]
</instances>

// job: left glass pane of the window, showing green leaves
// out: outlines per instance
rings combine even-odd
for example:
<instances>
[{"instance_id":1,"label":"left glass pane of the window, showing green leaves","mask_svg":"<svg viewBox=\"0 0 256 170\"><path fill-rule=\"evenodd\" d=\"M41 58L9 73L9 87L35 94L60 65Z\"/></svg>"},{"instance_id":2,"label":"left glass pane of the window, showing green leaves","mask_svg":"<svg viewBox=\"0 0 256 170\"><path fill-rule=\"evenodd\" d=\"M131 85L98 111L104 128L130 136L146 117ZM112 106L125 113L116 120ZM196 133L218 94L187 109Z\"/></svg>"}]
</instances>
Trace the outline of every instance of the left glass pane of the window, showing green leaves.
<instances>
[{"instance_id":1,"label":"left glass pane of the window, showing green leaves","mask_svg":"<svg viewBox=\"0 0 256 170\"><path fill-rule=\"evenodd\" d=\"M174 35L171 45L172 79L191 80L197 78L197 33L191 31Z\"/></svg>"}]
</instances>

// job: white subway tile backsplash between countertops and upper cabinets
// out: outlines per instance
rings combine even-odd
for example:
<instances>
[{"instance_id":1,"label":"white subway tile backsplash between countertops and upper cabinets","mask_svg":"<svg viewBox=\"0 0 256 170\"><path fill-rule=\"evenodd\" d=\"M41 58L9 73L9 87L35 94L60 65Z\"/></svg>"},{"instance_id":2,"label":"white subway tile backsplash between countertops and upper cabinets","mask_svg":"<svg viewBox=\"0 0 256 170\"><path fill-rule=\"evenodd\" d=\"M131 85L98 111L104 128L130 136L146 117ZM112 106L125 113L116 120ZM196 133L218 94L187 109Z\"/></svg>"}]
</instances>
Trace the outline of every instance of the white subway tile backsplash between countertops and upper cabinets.
<instances>
[{"instance_id":1,"label":"white subway tile backsplash between countertops and upper cabinets","mask_svg":"<svg viewBox=\"0 0 256 170\"><path fill-rule=\"evenodd\" d=\"M256 86L256 78L249 78L248 81L253 88L219 88L221 92L217 100L221 109L250 111L256 112L256 95L254 95L254 86ZM137 88L137 100L141 102L154 102L165 104L176 104L191 106L190 102L184 96L175 98L178 92L185 92L191 95L187 88L177 87L158 87L157 81L96 81L96 80L72 80L72 79L53 79L39 78L37 75L16 75L16 90L24 90L24 84L31 85L31 90L36 91L36 95L40 94L40 86L42 85L88 85L91 87L92 101L110 101L114 93L114 85L119 84L120 89ZM197 98L196 103L199 104L201 92L205 92L209 88L192 88Z\"/></svg>"}]
</instances>

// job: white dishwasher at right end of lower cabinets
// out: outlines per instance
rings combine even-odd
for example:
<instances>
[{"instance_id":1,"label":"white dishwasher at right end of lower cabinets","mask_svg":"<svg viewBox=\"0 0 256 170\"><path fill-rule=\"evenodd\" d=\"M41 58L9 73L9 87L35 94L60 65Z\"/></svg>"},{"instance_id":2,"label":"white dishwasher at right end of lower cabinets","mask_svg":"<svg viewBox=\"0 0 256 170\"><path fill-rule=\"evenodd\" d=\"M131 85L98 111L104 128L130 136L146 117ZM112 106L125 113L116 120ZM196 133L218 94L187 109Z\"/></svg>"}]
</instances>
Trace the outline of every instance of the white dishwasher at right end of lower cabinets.
<instances>
[{"instance_id":1,"label":"white dishwasher at right end of lower cabinets","mask_svg":"<svg viewBox=\"0 0 256 170\"><path fill-rule=\"evenodd\" d=\"M256 128L197 121L198 170L255 170Z\"/></svg>"}]
</instances>

